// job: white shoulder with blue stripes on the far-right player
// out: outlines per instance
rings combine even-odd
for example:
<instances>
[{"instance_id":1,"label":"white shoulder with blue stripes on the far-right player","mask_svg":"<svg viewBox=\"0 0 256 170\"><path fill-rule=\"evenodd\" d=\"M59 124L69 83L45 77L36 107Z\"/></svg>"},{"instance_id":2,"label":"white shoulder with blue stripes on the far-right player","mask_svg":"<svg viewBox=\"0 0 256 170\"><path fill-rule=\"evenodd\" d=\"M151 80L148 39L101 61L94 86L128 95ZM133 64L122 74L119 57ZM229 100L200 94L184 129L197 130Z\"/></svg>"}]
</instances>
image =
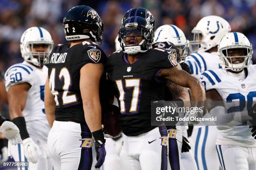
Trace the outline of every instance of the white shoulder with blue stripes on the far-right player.
<instances>
[{"instance_id":1,"label":"white shoulder with blue stripes on the far-right player","mask_svg":"<svg viewBox=\"0 0 256 170\"><path fill-rule=\"evenodd\" d=\"M200 80L205 86L205 90L210 90L221 82L220 70L207 70L202 72Z\"/></svg>"}]
</instances>

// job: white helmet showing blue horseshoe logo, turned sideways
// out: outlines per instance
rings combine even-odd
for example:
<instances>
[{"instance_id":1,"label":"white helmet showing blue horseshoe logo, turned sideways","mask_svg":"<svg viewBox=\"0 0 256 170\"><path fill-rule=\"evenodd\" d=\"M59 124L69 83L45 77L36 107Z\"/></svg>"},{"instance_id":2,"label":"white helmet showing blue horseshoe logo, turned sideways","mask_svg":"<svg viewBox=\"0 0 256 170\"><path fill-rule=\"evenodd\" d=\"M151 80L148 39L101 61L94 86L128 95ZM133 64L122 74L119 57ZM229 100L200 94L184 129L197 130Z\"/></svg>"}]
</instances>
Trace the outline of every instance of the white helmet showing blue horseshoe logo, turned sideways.
<instances>
[{"instance_id":1,"label":"white helmet showing blue horseshoe logo, turned sideways","mask_svg":"<svg viewBox=\"0 0 256 170\"><path fill-rule=\"evenodd\" d=\"M205 52L220 43L221 38L231 31L229 23L215 15L202 18L191 31L194 40L189 41L190 52ZM200 40L200 37L201 40Z\"/></svg>"}]
</instances>

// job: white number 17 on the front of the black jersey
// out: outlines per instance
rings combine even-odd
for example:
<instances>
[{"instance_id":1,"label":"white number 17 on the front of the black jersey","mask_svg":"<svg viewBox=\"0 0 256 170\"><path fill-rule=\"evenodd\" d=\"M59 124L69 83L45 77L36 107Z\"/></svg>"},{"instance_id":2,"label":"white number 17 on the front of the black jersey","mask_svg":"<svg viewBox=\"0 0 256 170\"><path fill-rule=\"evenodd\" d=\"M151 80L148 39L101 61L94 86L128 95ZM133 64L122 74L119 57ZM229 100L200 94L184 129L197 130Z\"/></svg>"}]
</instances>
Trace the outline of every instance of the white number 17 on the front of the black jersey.
<instances>
[{"instance_id":1,"label":"white number 17 on the front of the black jersey","mask_svg":"<svg viewBox=\"0 0 256 170\"><path fill-rule=\"evenodd\" d=\"M141 79L125 79L125 88L133 87L133 95L131 100L131 106L129 112L137 113L138 101L139 101L139 94L140 94L140 82ZM122 80L115 80L115 83L119 90L119 101L120 101L120 112L125 113L125 91L123 90L123 82Z\"/></svg>"}]
</instances>

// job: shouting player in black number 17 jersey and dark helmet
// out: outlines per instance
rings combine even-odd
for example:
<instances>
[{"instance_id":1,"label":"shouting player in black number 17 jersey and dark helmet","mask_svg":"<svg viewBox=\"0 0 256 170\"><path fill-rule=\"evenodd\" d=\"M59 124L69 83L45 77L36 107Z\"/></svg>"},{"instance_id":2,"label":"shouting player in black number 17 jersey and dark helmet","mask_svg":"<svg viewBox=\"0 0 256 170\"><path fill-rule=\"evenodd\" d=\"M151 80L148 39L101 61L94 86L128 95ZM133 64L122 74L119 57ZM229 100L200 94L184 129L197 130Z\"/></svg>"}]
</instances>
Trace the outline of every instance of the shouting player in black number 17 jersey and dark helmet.
<instances>
[{"instance_id":1,"label":"shouting player in black number 17 jersey and dark helmet","mask_svg":"<svg viewBox=\"0 0 256 170\"><path fill-rule=\"evenodd\" d=\"M166 81L159 79L192 88L193 101L205 97L199 80L178 65L176 50L151 48L152 29L145 18L127 18L119 31L122 51L114 52L106 63L124 133L120 153L123 170L167 169L168 132L165 126L151 126L150 115L151 101L164 99Z\"/></svg>"}]
</instances>

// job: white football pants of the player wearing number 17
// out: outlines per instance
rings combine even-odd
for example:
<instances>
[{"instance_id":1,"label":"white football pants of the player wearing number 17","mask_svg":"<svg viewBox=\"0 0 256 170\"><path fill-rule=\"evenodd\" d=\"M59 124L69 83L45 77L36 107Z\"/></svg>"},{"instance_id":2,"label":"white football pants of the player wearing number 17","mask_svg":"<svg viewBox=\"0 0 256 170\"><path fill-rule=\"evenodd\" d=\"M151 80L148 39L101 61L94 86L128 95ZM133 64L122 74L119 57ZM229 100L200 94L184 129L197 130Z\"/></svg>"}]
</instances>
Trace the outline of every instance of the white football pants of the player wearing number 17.
<instances>
[{"instance_id":1,"label":"white football pants of the player wearing number 17","mask_svg":"<svg viewBox=\"0 0 256 170\"><path fill-rule=\"evenodd\" d=\"M159 130L164 133L160 134ZM167 145L165 126L138 136L123 135L122 170L167 170Z\"/></svg>"}]
</instances>

